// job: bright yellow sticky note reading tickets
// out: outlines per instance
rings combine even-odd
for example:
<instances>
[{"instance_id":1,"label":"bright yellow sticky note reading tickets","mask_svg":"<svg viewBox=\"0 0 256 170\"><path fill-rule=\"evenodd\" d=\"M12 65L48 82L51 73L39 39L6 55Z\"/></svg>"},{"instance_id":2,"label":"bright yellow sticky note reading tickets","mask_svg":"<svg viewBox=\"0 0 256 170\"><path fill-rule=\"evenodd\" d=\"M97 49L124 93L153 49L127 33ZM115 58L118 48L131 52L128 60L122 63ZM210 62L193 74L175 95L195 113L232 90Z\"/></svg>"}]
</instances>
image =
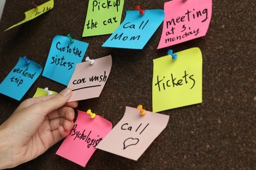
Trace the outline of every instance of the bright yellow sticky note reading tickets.
<instances>
[{"instance_id":1,"label":"bright yellow sticky note reading tickets","mask_svg":"<svg viewBox=\"0 0 256 170\"><path fill-rule=\"evenodd\" d=\"M153 60L153 112L202 103L202 52L190 48Z\"/></svg>"}]
</instances>

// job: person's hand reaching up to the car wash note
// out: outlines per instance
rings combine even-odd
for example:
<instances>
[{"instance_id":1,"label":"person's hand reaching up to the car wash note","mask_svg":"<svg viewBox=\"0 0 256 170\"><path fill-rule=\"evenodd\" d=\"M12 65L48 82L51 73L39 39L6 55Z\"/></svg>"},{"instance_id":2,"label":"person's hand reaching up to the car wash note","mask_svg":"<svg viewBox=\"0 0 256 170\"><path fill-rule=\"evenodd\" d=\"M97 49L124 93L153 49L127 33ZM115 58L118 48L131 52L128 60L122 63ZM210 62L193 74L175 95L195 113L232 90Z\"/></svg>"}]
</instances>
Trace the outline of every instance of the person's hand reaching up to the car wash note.
<instances>
[{"instance_id":1,"label":"person's hand reaching up to the car wash note","mask_svg":"<svg viewBox=\"0 0 256 170\"><path fill-rule=\"evenodd\" d=\"M0 169L33 160L64 139L74 125L74 108L69 88L57 95L23 101L0 126Z\"/></svg>"}]
</instances>

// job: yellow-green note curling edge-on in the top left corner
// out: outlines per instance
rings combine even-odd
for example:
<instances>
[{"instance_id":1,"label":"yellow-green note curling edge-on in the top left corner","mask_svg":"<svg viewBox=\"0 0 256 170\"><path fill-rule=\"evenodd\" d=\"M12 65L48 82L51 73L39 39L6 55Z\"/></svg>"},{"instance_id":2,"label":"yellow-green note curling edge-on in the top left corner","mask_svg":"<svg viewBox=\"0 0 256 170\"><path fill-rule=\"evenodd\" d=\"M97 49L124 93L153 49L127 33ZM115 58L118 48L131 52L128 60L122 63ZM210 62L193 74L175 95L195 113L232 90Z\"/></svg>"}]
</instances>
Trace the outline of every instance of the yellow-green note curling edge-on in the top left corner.
<instances>
[{"instance_id":1,"label":"yellow-green note curling edge-on in the top left corner","mask_svg":"<svg viewBox=\"0 0 256 170\"><path fill-rule=\"evenodd\" d=\"M37 16L40 16L41 14L44 14L45 12L48 12L49 10L53 9L54 1L50 0L46 3L43 3L42 5L39 5L37 8L33 8L31 10L28 10L25 12L25 19L21 22L18 22L17 24L12 25L11 27L5 29L5 31L11 29L12 27L16 27L20 24L23 24L25 22L28 22L30 20L33 20L33 18L37 18Z\"/></svg>"}]
</instances>

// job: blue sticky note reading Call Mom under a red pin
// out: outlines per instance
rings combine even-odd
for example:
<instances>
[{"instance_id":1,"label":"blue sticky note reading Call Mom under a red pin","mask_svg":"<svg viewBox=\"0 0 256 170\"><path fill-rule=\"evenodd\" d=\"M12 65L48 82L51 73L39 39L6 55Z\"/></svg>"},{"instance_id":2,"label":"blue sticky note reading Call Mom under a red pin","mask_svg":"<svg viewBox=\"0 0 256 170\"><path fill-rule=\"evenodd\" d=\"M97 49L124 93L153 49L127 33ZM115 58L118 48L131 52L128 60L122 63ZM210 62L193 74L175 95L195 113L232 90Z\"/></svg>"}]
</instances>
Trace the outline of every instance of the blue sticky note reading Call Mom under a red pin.
<instances>
[{"instance_id":1,"label":"blue sticky note reading Call Mom under a red pin","mask_svg":"<svg viewBox=\"0 0 256 170\"><path fill-rule=\"evenodd\" d=\"M165 13L161 9L127 10L125 20L102 46L142 49L163 22Z\"/></svg>"}]
</instances>

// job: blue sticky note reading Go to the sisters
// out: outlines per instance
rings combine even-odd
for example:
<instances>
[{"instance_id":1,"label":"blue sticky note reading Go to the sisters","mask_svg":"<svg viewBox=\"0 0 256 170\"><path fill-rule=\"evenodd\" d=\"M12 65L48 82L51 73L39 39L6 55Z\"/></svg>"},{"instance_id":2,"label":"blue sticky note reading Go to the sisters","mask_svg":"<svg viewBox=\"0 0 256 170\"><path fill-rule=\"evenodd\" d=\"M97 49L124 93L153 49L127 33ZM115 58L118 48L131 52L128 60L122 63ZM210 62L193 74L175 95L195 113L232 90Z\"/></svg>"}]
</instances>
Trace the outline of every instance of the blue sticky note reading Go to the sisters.
<instances>
[{"instance_id":1,"label":"blue sticky note reading Go to the sisters","mask_svg":"<svg viewBox=\"0 0 256 170\"><path fill-rule=\"evenodd\" d=\"M75 65L81 63L89 45L87 42L72 40L62 35L54 37L43 70L43 76L66 86L75 71Z\"/></svg>"}]
</instances>

